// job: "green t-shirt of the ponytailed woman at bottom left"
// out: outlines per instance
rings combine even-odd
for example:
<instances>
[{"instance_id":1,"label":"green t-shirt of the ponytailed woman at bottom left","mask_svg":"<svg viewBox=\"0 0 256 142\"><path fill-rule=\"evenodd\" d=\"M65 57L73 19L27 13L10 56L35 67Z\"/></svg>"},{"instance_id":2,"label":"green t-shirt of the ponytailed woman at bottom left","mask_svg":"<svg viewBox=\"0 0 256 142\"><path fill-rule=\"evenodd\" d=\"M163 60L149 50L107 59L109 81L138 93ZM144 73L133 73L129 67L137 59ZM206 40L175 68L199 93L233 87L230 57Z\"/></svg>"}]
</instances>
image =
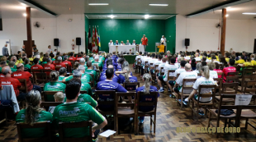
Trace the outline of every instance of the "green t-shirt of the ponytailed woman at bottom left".
<instances>
[{"instance_id":1,"label":"green t-shirt of the ponytailed woman at bottom left","mask_svg":"<svg viewBox=\"0 0 256 142\"><path fill-rule=\"evenodd\" d=\"M21 109L16 116L17 122L25 122L26 109ZM50 112L41 111L36 117L36 122L38 121L52 121L52 114ZM21 130L21 135L24 138L39 138L44 137L48 134L46 128L26 128Z\"/></svg>"}]
</instances>

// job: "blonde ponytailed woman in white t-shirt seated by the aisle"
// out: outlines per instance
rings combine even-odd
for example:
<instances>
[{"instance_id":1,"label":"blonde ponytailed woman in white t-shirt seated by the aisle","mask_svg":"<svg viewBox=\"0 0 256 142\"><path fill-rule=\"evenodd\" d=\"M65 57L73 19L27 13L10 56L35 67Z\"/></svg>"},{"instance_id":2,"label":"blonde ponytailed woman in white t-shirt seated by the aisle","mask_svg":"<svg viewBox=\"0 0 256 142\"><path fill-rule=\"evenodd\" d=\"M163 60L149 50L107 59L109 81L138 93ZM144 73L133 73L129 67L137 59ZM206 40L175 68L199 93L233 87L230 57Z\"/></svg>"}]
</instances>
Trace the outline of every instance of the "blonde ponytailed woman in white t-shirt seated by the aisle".
<instances>
[{"instance_id":1,"label":"blonde ponytailed woman in white t-shirt seated by the aisle","mask_svg":"<svg viewBox=\"0 0 256 142\"><path fill-rule=\"evenodd\" d=\"M187 102L189 99L192 99L193 97L197 100L198 99L198 88L199 85L216 85L216 82L210 77L210 70L208 66L203 66L201 67L201 76L200 78L198 78L196 80L196 82L193 85L193 91L192 93L189 95L188 98L186 98L183 103L185 105L187 105ZM211 94L211 88L209 89L201 89L201 94ZM211 102L211 97L206 97L206 98L199 98L199 102L201 103L209 103ZM199 110L199 115L204 115L203 109L200 108Z\"/></svg>"}]
</instances>

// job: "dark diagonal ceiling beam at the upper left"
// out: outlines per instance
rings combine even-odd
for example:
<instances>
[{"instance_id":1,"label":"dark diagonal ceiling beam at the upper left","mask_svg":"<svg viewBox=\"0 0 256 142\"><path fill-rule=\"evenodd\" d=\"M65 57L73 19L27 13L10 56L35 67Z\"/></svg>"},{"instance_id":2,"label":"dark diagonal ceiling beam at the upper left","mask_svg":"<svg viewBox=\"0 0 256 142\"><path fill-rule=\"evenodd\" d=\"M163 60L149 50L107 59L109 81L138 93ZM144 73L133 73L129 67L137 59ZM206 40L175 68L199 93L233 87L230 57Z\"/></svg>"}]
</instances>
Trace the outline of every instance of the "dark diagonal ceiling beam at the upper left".
<instances>
[{"instance_id":1,"label":"dark diagonal ceiling beam at the upper left","mask_svg":"<svg viewBox=\"0 0 256 142\"><path fill-rule=\"evenodd\" d=\"M43 12L45 12L46 14L48 14L50 16L57 16L57 14L55 12L50 11L47 8L42 7L40 4L38 4L36 2L33 2L31 0L17 0L17 1L25 3L26 5L28 5L30 7L33 7L33 8L36 8L39 11L43 11Z\"/></svg>"}]
</instances>

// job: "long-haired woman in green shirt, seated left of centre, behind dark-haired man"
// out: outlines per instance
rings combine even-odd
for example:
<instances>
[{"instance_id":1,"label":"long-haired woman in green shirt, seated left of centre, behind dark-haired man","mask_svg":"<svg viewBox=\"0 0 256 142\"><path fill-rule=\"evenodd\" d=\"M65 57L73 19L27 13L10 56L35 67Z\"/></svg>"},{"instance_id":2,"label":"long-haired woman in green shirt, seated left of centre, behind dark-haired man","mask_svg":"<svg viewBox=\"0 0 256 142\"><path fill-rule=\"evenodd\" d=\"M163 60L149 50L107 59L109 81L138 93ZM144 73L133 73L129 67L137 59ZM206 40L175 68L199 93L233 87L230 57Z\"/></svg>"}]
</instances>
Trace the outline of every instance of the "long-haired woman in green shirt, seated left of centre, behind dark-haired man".
<instances>
[{"instance_id":1,"label":"long-haired woman in green shirt, seated left of centre, behind dark-haired man","mask_svg":"<svg viewBox=\"0 0 256 142\"><path fill-rule=\"evenodd\" d=\"M58 80L59 71L51 71L50 82L45 84L44 91L61 91L64 93L66 85L64 83L59 82ZM46 99L50 102L55 102L55 98L53 96L47 96Z\"/></svg>"}]
</instances>

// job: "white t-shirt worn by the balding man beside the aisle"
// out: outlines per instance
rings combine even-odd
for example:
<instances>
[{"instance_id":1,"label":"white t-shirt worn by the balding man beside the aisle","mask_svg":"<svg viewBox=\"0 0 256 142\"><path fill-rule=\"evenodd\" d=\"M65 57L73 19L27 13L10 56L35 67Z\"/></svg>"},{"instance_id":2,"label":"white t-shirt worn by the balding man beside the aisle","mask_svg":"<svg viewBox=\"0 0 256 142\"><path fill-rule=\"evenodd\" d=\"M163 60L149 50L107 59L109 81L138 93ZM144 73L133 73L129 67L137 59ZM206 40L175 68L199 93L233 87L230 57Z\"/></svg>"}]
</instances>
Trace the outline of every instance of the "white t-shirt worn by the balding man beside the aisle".
<instances>
[{"instance_id":1,"label":"white t-shirt worn by the balding man beside the aisle","mask_svg":"<svg viewBox=\"0 0 256 142\"><path fill-rule=\"evenodd\" d=\"M190 94L192 92L192 89L183 89L183 79L197 79L197 72L194 71L185 71L182 72L179 76L178 79L176 80L176 83L178 84L178 89L179 92L182 92L184 94ZM194 82L191 81L187 81L185 82L184 86L188 87L192 87L194 85Z\"/></svg>"}]
</instances>

